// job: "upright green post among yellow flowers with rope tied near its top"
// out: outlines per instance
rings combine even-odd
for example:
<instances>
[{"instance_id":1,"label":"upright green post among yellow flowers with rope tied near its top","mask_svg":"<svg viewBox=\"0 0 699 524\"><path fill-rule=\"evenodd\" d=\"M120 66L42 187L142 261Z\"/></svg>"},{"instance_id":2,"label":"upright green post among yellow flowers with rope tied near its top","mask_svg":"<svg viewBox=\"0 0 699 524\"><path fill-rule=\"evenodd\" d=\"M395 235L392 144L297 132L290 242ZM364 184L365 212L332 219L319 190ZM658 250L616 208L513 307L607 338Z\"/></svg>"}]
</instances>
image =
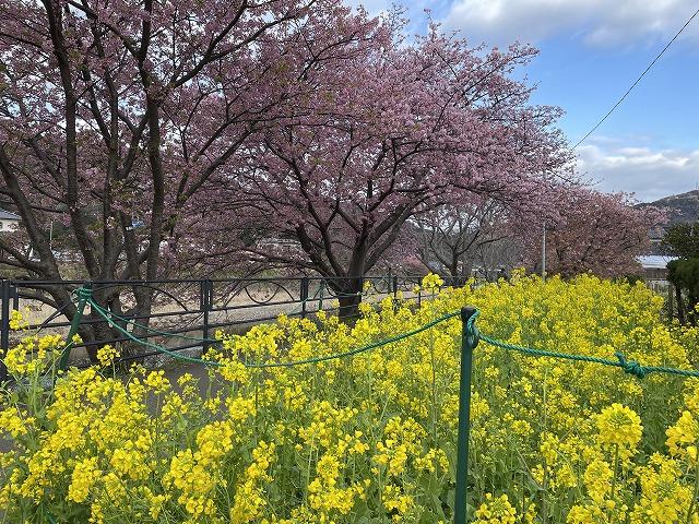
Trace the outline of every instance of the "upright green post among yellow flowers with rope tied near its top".
<instances>
[{"instance_id":1,"label":"upright green post among yellow flowers with rope tied near its top","mask_svg":"<svg viewBox=\"0 0 699 524\"><path fill-rule=\"evenodd\" d=\"M469 433L471 432L471 370L473 349L478 344L478 332L469 320L475 308L461 309L461 380L459 382L459 437L457 440L457 493L454 497L454 524L466 524L469 484Z\"/></svg>"}]
</instances>

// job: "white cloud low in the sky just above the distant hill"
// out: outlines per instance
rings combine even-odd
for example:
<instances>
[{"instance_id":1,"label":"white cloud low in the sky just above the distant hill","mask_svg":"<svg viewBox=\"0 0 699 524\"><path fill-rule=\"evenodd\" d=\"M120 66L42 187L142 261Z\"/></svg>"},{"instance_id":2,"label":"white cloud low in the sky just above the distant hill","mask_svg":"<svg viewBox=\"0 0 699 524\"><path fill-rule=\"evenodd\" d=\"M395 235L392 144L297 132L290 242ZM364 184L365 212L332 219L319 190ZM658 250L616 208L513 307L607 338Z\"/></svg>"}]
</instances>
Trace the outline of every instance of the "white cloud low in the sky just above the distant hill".
<instances>
[{"instance_id":1,"label":"white cloud low in the sky just above the distant hill","mask_svg":"<svg viewBox=\"0 0 699 524\"><path fill-rule=\"evenodd\" d=\"M699 150L652 150L609 142L578 148L578 169L604 191L636 193L642 202L697 189Z\"/></svg>"}]
</instances>

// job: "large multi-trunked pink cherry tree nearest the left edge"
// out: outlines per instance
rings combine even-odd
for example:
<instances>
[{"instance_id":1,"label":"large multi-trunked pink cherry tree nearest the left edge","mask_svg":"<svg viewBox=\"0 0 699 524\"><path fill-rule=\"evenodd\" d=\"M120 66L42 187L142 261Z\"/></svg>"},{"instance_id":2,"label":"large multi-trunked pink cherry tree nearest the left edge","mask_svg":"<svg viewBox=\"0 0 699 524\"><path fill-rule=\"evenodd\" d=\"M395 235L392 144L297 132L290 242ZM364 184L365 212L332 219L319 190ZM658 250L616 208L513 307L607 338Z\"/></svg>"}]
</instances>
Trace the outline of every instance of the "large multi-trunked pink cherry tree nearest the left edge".
<instances>
[{"instance_id":1,"label":"large multi-trunked pink cherry tree nearest the left edge","mask_svg":"<svg viewBox=\"0 0 699 524\"><path fill-rule=\"evenodd\" d=\"M62 276L51 221L85 277L163 276L192 214L222 205L223 166L312 96L289 73L379 26L332 0L0 0L0 194L34 253L0 238L0 262L42 279ZM71 318L68 289L47 289ZM122 312L117 288L96 294ZM147 313L153 290L133 295Z\"/></svg>"}]
</instances>

